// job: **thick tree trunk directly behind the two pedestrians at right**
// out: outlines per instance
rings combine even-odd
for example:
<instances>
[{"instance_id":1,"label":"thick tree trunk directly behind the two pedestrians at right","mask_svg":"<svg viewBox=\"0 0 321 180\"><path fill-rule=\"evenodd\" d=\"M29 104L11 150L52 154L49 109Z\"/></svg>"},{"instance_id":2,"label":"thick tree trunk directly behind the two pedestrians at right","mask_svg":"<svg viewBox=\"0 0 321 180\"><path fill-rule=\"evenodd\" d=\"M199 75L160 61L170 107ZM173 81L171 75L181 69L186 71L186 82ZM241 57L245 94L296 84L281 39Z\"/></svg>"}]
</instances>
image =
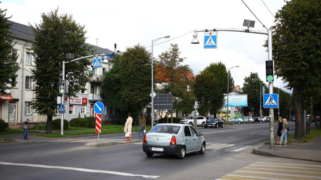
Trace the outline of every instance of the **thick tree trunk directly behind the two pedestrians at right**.
<instances>
[{"instance_id":1,"label":"thick tree trunk directly behind the two pedestrians at right","mask_svg":"<svg viewBox=\"0 0 321 180\"><path fill-rule=\"evenodd\" d=\"M304 114L302 113L301 94L298 85L293 86L293 109L295 116L295 133L294 138L300 140L304 137Z\"/></svg>"}]
</instances>

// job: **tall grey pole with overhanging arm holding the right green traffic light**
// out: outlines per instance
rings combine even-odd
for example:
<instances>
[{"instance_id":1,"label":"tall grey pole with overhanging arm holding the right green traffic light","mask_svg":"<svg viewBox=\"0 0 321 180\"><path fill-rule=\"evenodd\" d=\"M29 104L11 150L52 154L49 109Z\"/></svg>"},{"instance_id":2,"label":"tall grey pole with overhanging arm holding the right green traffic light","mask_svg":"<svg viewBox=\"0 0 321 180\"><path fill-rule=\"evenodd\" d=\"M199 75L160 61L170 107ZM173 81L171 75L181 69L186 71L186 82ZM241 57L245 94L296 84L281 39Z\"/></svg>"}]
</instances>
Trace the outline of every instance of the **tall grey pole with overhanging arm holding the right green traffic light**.
<instances>
[{"instance_id":1,"label":"tall grey pole with overhanging arm holding the right green traffic light","mask_svg":"<svg viewBox=\"0 0 321 180\"><path fill-rule=\"evenodd\" d=\"M265 35L267 35L268 60L272 60L272 30L271 29L268 29L267 31L262 31L262 30L249 30L249 29L217 28L217 29L195 30L194 32L207 32L207 31L236 31L236 32L265 34ZM273 81L269 82L269 93L273 93ZM270 149L274 149L274 112L273 112L273 108L269 108L269 115L271 116L271 119L269 121Z\"/></svg>"}]
</instances>

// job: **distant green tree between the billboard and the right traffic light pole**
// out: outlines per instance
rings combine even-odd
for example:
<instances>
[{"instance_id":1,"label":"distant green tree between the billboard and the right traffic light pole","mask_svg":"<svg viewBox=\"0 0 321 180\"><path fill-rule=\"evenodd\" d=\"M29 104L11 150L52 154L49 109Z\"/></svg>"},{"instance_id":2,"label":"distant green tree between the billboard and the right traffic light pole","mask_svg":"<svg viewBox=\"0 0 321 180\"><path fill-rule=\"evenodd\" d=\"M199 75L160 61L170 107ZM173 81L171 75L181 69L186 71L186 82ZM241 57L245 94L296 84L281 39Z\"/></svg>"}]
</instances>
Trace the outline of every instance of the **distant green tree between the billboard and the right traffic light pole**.
<instances>
[{"instance_id":1,"label":"distant green tree between the billboard and the right traffic light pole","mask_svg":"<svg viewBox=\"0 0 321 180\"><path fill-rule=\"evenodd\" d=\"M250 76L244 78L243 93L247 94L247 110L257 116L260 113L260 86L262 84L263 81L257 72L251 72Z\"/></svg>"}]
</instances>

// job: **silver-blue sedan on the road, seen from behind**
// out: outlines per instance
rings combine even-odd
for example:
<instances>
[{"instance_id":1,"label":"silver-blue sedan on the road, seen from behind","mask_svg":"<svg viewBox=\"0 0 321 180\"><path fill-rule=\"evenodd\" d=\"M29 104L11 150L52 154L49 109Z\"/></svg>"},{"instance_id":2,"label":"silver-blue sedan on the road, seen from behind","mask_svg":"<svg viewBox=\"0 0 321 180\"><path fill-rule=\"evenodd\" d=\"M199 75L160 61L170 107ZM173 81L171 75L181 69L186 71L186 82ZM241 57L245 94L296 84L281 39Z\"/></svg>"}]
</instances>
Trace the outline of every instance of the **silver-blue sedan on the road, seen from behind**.
<instances>
[{"instance_id":1,"label":"silver-blue sedan on the road, seen from behind","mask_svg":"<svg viewBox=\"0 0 321 180\"><path fill-rule=\"evenodd\" d=\"M183 159L192 152L205 153L206 142L203 134L192 125L162 123L153 126L144 135L142 149L148 157L154 153L177 155Z\"/></svg>"}]
</instances>

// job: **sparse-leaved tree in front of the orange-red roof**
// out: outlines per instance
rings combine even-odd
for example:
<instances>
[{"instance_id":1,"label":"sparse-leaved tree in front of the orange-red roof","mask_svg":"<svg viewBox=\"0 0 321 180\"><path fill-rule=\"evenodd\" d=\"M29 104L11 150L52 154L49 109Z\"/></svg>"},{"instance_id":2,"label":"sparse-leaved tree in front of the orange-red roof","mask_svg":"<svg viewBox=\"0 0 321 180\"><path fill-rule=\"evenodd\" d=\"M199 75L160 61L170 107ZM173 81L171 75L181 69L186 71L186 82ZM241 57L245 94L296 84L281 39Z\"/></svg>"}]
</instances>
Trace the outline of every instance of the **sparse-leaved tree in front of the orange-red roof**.
<instances>
[{"instance_id":1,"label":"sparse-leaved tree in front of the orange-red roof","mask_svg":"<svg viewBox=\"0 0 321 180\"><path fill-rule=\"evenodd\" d=\"M162 84L162 88L156 89L156 93L173 94L173 110L191 113L196 100L194 95L194 78L189 65L183 65L185 57L180 57L178 44L171 44L168 51L162 52L155 60L154 82ZM173 111L168 111L173 113ZM172 115L173 116L173 115ZM171 119L173 122L173 119Z\"/></svg>"}]
</instances>

